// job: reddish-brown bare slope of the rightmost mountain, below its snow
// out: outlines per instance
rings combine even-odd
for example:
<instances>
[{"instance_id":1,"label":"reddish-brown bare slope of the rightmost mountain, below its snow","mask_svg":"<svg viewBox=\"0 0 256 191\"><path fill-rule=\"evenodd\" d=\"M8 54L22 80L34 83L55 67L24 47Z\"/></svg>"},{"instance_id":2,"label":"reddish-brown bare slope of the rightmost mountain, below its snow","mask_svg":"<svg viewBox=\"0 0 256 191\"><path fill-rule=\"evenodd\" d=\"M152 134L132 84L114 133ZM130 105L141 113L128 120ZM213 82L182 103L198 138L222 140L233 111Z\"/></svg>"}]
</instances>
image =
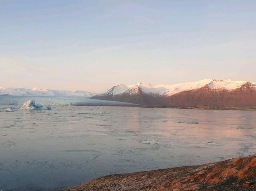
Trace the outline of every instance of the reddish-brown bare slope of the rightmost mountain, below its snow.
<instances>
[{"instance_id":1,"label":"reddish-brown bare slope of the rightmost mountain, below its snow","mask_svg":"<svg viewBox=\"0 0 256 191\"><path fill-rule=\"evenodd\" d=\"M256 106L256 85L246 83L231 91L225 89L211 89L205 85L199 89L183 91L165 97L160 103L167 106L194 106L194 105L239 105Z\"/></svg>"}]
</instances>

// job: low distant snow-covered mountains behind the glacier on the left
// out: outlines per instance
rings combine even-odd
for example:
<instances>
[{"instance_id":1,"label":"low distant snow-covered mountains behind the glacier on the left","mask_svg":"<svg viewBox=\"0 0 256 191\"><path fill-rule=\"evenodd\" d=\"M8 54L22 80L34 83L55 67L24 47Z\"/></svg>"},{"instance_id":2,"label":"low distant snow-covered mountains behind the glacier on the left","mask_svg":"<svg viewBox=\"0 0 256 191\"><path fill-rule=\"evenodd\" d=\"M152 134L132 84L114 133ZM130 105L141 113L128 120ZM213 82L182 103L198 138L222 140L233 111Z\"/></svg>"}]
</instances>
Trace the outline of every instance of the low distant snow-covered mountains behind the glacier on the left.
<instances>
[{"instance_id":1,"label":"low distant snow-covered mountains behind the glacier on the left","mask_svg":"<svg viewBox=\"0 0 256 191\"><path fill-rule=\"evenodd\" d=\"M48 90L42 88L32 88L32 89L24 89L24 88L16 88L16 89L7 89L0 87L0 95L14 95L14 96L94 96L95 93L88 91L78 91L78 90L66 90L66 91L58 91L58 90Z\"/></svg>"}]
</instances>

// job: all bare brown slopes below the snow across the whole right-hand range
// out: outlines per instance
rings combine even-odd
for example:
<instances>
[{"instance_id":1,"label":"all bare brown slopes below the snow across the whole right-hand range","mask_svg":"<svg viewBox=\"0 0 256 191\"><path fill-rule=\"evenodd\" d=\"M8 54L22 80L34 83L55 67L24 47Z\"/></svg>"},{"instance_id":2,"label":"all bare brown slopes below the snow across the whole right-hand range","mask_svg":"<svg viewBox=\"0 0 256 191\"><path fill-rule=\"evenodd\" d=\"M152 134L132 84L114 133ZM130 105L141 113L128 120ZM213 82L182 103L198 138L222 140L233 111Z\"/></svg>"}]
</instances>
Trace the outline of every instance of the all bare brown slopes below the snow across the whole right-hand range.
<instances>
[{"instance_id":1,"label":"all bare brown slopes below the snow across the whole right-hand range","mask_svg":"<svg viewBox=\"0 0 256 191\"><path fill-rule=\"evenodd\" d=\"M140 87L134 86L118 95L113 95L110 89L107 93L91 98L151 106L256 106L256 85L247 82L233 90L212 89L205 85L199 89L182 91L171 96L145 93Z\"/></svg>"}]
</instances>

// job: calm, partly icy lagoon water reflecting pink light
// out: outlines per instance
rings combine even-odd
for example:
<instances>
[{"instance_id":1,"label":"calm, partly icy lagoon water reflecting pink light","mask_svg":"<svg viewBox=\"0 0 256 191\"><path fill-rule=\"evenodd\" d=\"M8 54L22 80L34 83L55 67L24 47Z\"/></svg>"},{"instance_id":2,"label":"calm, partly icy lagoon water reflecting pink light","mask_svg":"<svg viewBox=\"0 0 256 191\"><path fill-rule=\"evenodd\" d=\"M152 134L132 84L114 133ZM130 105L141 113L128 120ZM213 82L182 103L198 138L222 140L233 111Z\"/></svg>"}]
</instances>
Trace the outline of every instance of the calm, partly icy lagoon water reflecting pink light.
<instances>
[{"instance_id":1,"label":"calm, partly icy lagoon water reflecting pink light","mask_svg":"<svg viewBox=\"0 0 256 191\"><path fill-rule=\"evenodd\" d=\"M8 107L14 112L4 112ZM256 111L0 106L0 190L52 191L108 174L256 153Z\"/></svg>"}]
</instances>

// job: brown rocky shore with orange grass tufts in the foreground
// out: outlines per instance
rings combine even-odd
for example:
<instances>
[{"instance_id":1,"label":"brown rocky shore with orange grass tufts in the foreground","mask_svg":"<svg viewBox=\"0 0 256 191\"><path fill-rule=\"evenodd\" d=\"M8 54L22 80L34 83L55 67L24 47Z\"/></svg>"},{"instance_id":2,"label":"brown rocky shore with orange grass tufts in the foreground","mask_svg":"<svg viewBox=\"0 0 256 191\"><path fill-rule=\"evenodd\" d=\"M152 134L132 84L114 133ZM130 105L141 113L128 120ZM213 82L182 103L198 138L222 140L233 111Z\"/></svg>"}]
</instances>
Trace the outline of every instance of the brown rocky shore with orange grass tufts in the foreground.
<instances>
[{"instance_id":1,"label":"brown rocky shore with orange grass tufts in the foreground","mask_svg":"<svg viewBox=\"0 0 256 191\"><path fill-rule=\"evenodd\" d=\"M256 191L256 155L198 166L108 175L65 191Z\"/></svg>"}]
</instances>

